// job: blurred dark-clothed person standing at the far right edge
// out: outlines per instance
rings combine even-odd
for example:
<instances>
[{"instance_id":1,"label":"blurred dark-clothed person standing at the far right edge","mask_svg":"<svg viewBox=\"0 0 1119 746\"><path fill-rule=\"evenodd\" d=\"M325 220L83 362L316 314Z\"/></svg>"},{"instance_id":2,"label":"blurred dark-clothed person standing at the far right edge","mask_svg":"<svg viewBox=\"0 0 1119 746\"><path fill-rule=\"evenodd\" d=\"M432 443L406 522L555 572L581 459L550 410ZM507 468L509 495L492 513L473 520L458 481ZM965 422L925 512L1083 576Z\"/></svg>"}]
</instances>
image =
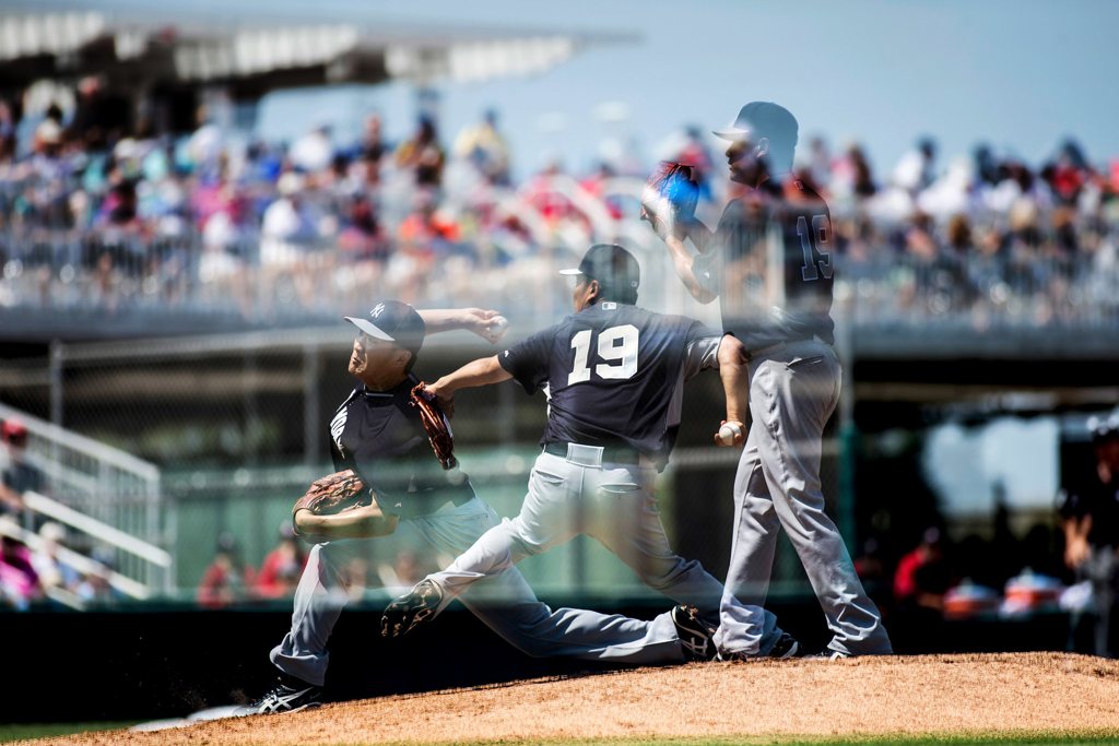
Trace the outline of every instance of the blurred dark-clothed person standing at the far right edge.
<instances>
[{"instance_id":1,"label":"blurred dark-clothed person standing at the far right edge","mask_svg":"<svg viewBox=\"0 0 1119 746\"><path fill-rule=\"evenodd\" d=\"M1096 607L1094 652L1119 655L1119 410L1089 421L1096 469L1062 494L1064 563L1091 583Z\"/></svg>"}]
</instances>

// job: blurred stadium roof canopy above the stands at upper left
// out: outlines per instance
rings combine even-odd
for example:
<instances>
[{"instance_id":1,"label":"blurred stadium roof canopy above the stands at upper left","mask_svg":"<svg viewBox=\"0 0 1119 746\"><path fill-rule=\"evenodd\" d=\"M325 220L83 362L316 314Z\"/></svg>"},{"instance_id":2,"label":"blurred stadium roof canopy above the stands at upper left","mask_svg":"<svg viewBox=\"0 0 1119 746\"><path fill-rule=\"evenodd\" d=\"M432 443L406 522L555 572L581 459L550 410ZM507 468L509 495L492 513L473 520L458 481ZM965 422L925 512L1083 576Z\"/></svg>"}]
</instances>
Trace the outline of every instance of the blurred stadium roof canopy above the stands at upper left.
<instances>
[{"instance_id":1,"label":"blurred stadium roof canopy above the stands at upper left","mask_svg":"<svg viewBox=\"0 0 1119 746\"><path fill-rule=\"evenodd\" d=\"M224 85L235 97L253 98L293 86L532 75L589 46L633 40L594 31L421 26L336 0L7 0L0 8L0 88L101 74L111 85Z\"/></svg>"}]
</instances>

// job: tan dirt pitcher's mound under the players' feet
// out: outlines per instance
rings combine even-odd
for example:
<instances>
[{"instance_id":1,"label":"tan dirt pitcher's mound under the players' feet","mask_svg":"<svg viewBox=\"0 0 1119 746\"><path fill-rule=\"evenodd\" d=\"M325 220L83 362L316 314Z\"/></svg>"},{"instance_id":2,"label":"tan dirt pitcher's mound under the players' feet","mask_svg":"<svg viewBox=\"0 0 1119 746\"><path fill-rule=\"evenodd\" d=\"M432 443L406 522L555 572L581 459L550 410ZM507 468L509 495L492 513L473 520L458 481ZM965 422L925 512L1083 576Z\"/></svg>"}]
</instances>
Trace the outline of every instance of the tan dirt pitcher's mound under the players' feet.
<instances>
[{"instance_id":1,"label":"tan dirt pitcher's mound under the players' feet","mask_svg":"<svg viewBox=\"0 0 1119 746\"><path fill-rule=\"evenodd\" d=\"M1027 730L1119 736L1119 661L1016 653L690 664L36 743L279 746Z\"/></svg>"}]
</instances>

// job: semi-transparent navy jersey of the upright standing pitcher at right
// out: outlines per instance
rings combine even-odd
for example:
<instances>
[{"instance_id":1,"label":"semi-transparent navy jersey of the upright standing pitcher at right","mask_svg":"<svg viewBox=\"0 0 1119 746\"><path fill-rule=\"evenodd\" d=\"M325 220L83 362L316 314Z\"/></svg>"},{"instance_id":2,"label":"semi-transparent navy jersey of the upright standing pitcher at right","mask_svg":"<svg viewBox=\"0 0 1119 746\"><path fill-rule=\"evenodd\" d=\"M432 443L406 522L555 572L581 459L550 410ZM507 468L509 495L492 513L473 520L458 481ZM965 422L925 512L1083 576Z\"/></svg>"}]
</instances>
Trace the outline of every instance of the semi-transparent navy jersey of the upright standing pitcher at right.
<instances>
[{"instance_id":1,"label":"semi-transparent navy jersey of the upright standing pitcher at right","mask_svg":"<svg viewBox=\"0 0 1119 746\"><path fill-rule=\"evenodd\" d=\"M723 327L751 351L812 337L834 341L831 217L803 182L789 186L786 192L767 182L732 200L713 246L692 267L720 296Z\"/></svg>"}]
</instances>

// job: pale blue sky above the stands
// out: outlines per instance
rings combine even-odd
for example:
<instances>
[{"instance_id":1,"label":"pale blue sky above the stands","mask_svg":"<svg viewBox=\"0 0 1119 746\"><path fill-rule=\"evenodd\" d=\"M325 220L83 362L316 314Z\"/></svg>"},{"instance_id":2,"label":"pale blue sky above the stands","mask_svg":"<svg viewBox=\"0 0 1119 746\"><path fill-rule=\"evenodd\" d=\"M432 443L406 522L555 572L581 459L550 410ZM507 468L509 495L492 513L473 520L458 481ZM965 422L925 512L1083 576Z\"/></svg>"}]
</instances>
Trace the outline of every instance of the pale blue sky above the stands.
<instances>
[{"instance_id":1,"label":"pale blue sky above the stands","mask_svg":"<svg viewBox=\"0 0 1119 746\"><path fill-rule=\"evenodd\" d=\"M317 6L349 7L338 0ZM753 100L790 108L802 141L822 134L833 149L859 141L878 174L922 134L940 143L942 163L979 141L1040 163L1068 135L1094 160L1119 157L1115 2L568 0L542 11L538 3L507 0L425 0L361 8L363 17L405 22L638 37L586 49L530 78L438 86L444 139L495 106L519 171L555 155L586 168L604 136L623 132L648 161L674 130L724 125ZM309 126L330 108L309 106L307 92L289 98L279 113L269 102L262 124L299 129L308 120ZM344 116L377 108L389 135L410 131L408 88L382 86L359 94L358 103L352 98L331 106ZM596 116L604 103L621 104L628 117L604 122Z\"/></svg>"}]
</instances>

